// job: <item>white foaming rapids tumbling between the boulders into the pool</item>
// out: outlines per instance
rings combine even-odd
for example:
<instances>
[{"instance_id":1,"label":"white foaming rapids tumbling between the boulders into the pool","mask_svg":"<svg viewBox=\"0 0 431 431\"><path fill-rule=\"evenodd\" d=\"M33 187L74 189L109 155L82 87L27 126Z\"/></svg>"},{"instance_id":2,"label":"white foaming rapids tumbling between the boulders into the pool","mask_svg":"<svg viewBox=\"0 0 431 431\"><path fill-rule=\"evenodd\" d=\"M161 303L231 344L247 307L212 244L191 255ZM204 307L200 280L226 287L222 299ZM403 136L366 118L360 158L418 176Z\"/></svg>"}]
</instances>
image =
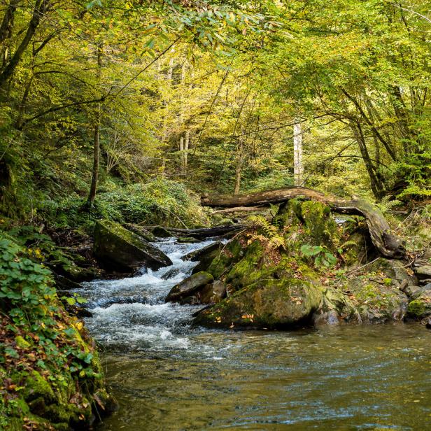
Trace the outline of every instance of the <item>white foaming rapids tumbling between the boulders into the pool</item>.
<instances>
[{"instance_id":1,"label":"white foaming rapids tumbling between the boulders into the pool","mask_svg":"<svg viewBox=\"0 0 431 431\"><path fill-rule=\"evenodd\" d=\"M188 348L192 313L200 306L165 303L169 290L190 275L197 262L182 257L213 243L178 243L175 238L153 243L173 264L157 271L142 268L134 277L95 280L76 290L92 313L85 323L104 346L119 351Z\"/></svg>"}]
</instances>

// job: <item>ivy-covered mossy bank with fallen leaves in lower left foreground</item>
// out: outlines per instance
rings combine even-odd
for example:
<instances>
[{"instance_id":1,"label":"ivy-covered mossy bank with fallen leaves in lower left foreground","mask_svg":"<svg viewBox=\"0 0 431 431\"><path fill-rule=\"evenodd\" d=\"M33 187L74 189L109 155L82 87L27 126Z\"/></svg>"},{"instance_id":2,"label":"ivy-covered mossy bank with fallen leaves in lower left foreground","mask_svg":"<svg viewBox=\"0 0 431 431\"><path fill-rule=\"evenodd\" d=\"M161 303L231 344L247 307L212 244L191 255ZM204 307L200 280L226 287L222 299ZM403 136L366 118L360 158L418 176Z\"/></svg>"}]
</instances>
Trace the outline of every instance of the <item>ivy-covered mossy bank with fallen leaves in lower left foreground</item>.
<instances>
[{"instance_id":1,"label":"ivy-covered mossy bank with fallen leaves in lower left foreground","mask_svg":"<svg viewBox=\"0 0 431 431\"><path fill-rule=\"evenodd\" d=\"M0 429L90 425L110 404L94 341L30 257L0 234Z\"/></svg>"}]
</instances>

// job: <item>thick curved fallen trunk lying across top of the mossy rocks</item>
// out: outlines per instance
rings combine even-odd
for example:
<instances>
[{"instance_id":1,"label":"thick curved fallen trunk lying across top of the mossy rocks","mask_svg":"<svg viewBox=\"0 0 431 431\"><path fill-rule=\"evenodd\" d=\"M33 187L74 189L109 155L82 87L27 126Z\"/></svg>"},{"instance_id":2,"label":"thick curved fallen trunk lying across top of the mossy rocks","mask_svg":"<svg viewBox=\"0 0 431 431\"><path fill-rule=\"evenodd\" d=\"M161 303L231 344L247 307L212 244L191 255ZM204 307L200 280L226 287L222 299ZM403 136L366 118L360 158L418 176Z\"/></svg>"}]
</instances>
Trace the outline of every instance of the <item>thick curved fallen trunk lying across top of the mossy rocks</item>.
<instances>
[{"instance_id":1,"label":"thick curved fallen trunk lying across top of the mossy rocks","mask_svg":"<svg viewBox=\"0 0 431 431\"><path fill-rule=\"evenodd\" d=\"M289 199L299 198L323 202L330 206L336 213L362 215L367 221L367 227L374 246L385 257L401 257L405 254L403 241L393 234L388 221L372 204L362 199L341 199L334 195L304 187L289 187L265 192L248 193L236 196L203 196L203 206L234 208L236 206L268 206L269 204L281 204Z\"/></svg>"}]
</instances>

